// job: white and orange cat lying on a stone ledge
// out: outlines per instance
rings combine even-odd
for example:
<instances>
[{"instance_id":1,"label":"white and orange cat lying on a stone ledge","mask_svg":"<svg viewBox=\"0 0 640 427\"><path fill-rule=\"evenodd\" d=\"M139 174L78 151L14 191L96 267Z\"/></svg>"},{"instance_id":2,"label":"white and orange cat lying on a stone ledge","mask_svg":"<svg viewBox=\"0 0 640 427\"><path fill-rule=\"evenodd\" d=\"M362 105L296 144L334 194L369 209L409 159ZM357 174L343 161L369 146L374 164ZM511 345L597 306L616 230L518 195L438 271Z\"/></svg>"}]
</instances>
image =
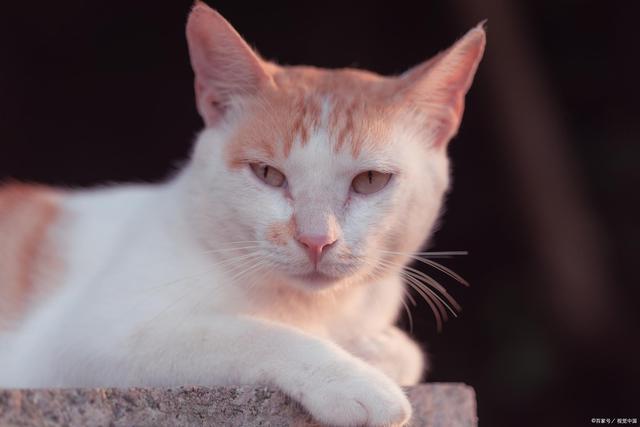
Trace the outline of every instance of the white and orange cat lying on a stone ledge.
<instances>
[{"instance_id":1,"label":"white and orange cat lying on a stone ledge","mask_svg":"<svg viewBox=\"0 0 640 427\"><path fill-rule=\"evenodd\" d=\"M173 177L0 188L0 386L267 384L329 425L406 423L401 271L484 25L395 77L267 62L200 2L186 35L205 127Z\"/></svg>"}]
</instances>

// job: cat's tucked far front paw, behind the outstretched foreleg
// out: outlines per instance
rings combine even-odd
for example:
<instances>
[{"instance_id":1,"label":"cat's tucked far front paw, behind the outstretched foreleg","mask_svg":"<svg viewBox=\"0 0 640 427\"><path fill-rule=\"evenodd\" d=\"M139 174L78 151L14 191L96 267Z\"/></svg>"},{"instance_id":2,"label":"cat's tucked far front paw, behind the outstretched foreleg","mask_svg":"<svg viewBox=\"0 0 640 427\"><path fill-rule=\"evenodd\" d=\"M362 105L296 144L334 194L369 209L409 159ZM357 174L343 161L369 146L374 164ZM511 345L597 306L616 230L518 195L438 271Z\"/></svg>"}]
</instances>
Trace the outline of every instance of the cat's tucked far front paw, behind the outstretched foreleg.
<instances>
[{"instance_id":1,"label":"cat's tucked far front paw, behind the outstretched foreleg","mask_svg":"<svg viewBox=\"0 0 640 427\"><path fill-rule=\"evenodd\" d=\"M354 338L343 347L403 386L418 383L427 369L424 352L395 326L376 335Z\"/></svg>"}]
</instances>

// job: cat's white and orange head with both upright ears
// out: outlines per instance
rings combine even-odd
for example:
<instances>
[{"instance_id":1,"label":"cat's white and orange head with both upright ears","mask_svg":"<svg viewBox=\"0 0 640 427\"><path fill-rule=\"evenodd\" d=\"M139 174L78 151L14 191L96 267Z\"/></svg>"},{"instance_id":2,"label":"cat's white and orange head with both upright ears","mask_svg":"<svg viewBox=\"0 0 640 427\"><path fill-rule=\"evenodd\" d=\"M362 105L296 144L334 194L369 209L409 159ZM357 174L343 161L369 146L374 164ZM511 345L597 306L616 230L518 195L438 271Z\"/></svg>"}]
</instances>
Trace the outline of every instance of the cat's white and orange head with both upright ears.
<instances>
[{"instance_id":1,"label":"cat's white and orange head with both upright ears","mask_svg":"<svg viewBox=\"0 0 640 427\"><path fill-rule=\"evenodd\" d=\"M320 289L393 270L424 243L448 188L447 143L482 57L481 25L397 77L267 62L203 3L187 38L206 124L192 214L236 276Z\"/></svg>"}]
</instances>

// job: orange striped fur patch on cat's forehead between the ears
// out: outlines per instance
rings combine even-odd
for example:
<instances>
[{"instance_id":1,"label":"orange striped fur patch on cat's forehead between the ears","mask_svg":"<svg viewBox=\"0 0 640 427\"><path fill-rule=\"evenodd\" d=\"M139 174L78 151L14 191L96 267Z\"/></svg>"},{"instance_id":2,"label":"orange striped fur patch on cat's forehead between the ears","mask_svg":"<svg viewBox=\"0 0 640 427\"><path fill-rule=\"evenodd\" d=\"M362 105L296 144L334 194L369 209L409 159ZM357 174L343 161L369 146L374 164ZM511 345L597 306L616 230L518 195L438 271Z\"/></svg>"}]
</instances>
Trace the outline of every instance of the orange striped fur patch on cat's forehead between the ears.
<instances>
[{"instance_id":1,"label":"orange striped fur patch on cat's forehead between the ears","mask_svg":"<svg viewBox=\"0 0 640 427\"><path fill-rule=\"evenodd\" d=\"M358 157L388 140L397 109L390 79L354 70L278 67L274 86L247 104L228 160L288 158L321 134L327 152Z\"/></svg>"}]
</instances>

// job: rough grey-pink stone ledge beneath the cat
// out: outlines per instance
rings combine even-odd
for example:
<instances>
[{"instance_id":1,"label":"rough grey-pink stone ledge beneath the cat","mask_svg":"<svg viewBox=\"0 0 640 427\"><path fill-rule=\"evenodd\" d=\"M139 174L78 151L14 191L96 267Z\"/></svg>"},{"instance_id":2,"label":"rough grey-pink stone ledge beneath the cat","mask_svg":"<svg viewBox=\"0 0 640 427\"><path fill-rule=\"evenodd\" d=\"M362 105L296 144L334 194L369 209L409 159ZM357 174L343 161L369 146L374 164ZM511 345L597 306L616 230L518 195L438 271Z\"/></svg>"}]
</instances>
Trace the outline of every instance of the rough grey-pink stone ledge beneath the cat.
<instances>
[{"instance_id":1,"label":"rough grey-pink stone ledge beneath the cat","mask_svg":"<svg viewBox=\"0 0 640 427\"><path fill-rule=\"evenodd\" d=\"M412 426L476 426L473 389L407 389ZM294 401L268 388L0 390L0 426L317 426Z\"/></svg>"}]
</instances>

